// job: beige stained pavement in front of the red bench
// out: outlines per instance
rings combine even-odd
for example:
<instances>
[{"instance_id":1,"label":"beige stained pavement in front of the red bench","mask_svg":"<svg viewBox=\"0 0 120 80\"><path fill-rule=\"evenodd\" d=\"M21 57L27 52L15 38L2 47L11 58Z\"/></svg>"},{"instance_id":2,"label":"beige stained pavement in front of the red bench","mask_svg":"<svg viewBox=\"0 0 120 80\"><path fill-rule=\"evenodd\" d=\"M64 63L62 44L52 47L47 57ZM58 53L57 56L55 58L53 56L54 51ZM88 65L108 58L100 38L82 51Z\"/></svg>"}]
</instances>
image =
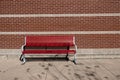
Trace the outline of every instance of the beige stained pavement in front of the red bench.
<instances>
[{"instance_id":1,"label":"beige stained pavement in front of the red bench","mask_svg":"<svg viewBox=\"0 0 120 80\"><path fill-rule=\"evenodd\" d=\"M71 61L0 60L0 80L120 80L120 59Z\"/></svg>"}]
</instances>

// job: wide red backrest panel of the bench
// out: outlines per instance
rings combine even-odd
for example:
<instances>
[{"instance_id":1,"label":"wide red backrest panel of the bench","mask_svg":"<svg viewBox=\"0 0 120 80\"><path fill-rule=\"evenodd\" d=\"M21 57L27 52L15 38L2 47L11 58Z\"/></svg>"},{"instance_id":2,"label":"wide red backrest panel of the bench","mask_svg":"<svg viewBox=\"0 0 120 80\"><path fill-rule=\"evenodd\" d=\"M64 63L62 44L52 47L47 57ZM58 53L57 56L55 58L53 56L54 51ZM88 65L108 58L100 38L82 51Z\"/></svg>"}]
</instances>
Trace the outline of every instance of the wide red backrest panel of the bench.
<instances>
[{"instance_id":1,"label":"wide red backrest panel of the bench","mask_svg":"<svg viewBox=\"0 0 120 80\"><path fill-rule=\"evenodd\" d=\"M74 36L26 36L26 46L74 46Z\"/></svg>"}]
</instances>

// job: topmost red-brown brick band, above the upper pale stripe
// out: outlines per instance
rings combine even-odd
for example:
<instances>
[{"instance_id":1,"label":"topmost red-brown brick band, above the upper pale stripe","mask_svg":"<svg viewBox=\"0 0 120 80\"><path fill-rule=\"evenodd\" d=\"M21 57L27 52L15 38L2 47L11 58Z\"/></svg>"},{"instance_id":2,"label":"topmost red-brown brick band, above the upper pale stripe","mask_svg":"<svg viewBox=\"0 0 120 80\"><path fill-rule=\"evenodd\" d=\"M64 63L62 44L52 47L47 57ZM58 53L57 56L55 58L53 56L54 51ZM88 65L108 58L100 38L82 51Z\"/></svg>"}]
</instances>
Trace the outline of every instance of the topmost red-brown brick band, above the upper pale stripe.
<instances>
[{"instance_id":1,"label":"topmost red-brown brick band, above the upper pale stripe","mask_svg":"<svg viewBox=\"0 0 120 80\"><path fill-rule=\"evenodd\" d=\"M119 0L2 0L0 14L119 13Z\"/></svg>"}]
</instances>

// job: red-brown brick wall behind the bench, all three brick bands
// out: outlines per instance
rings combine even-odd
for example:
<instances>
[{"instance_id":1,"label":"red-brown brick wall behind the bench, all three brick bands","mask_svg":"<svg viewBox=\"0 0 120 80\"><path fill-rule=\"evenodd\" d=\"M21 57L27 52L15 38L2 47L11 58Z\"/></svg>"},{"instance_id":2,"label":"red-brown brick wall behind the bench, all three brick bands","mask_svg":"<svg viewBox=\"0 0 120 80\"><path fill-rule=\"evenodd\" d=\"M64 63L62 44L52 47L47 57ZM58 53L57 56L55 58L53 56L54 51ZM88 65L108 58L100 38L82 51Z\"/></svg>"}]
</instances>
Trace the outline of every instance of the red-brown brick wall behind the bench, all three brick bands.
<instances>
[{"instance_id":1,"label":"red-brown brick wall behind the bench, all three brick bands","mask_svg":"<svg viewBox=\"0 0 120 80\"><path fill-rule=\"evenodd\" d=\"M120 13L120 0L0 1L0 15L89 13ZM1 32L48 31L120 31L120 16L0 17L0 49L20 49L25 37L25 34L1 34ZM74 35L78 48L120 48L120 34Z\"/></svg>"}]
</instances>

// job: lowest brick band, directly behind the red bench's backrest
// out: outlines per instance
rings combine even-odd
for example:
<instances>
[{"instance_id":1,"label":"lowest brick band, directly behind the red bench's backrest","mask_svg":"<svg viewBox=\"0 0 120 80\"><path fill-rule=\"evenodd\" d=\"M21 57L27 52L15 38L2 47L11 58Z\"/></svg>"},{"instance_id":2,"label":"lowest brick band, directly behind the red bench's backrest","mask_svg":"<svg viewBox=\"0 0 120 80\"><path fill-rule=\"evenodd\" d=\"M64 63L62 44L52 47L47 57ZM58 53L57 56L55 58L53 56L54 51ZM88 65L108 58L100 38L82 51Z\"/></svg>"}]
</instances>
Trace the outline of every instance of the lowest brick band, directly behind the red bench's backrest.
<instances>
[{"instance_id":1,"label":"lowest brick band, directly behind the red bench's backrest","mask_svg":"<svg viewBox=\"0 0 120 80\"><path fill-rule=\"evenodd\" d=\"M0 49L19 49L25 35L0 35ZM78 48L120 48L120 34L75 35Z\"/></svg>"}]
</instances>

